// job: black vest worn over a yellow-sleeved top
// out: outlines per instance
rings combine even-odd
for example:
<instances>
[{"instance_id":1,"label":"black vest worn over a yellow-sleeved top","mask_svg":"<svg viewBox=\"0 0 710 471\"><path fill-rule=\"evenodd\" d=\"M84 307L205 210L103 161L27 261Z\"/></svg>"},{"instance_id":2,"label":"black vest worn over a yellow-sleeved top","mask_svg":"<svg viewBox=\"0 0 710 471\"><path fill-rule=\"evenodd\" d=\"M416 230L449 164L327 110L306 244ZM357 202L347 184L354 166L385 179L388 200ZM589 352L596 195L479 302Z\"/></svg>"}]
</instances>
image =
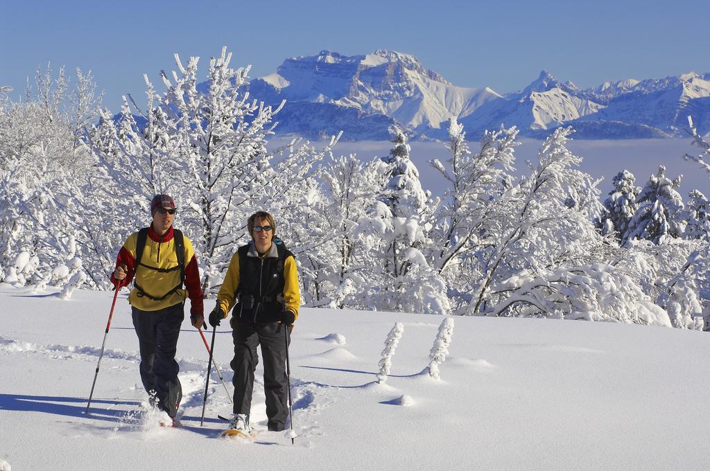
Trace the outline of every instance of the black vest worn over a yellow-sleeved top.
<instances>
[{"instance_id":1,"label":"black vest worn over a yellow-sleeved top","mask_svg":"<svg viewBox=\"0 0 710 471\"><path fill-rule=\"evenodd\" d=\"M254 256L253 243L239 248L239 287L233 316L248 322L276 322L283 311L283 262L293 253L281 241L274 241L276 257ZM249 253L251 250L251 254Z\"/></svg>"}]
</instances>

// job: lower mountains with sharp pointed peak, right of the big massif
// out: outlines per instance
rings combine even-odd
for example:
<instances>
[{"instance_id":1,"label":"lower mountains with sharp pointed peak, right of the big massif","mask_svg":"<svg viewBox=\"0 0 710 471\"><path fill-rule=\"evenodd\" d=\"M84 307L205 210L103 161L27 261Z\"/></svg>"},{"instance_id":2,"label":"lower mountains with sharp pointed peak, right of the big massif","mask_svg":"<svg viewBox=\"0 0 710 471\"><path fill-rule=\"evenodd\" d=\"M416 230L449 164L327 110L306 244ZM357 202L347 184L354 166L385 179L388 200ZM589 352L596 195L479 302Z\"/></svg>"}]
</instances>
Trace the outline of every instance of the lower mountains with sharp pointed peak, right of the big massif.
<instances>
[{"instance_id":1,"label":"lower mountains with sharp pointed peak, right of the big massif","mask_svg":"<svg viewBox=\"0 0 710 471\"><path fill-rule=\"evenodd\" d=\"M543 70L522 92L481 106L461 123L474 135L504 123L534 137L569 125L577 138L667 138L682 135L692 115L704 133L710 130L709 78L691 72L580 90Z\"/></svg>"}]
</instances>

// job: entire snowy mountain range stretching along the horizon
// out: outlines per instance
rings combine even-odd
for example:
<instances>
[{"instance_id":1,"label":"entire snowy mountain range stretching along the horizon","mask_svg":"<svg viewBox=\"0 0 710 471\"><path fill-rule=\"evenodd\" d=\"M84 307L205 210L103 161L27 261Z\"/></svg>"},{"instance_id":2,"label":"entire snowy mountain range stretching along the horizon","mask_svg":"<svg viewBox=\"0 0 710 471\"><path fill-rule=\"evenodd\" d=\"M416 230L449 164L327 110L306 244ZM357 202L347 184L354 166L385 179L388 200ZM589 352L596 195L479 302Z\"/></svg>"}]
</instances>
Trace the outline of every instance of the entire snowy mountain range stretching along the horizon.
<instances>
[{"instance_id":1,"label":"entire snowy mountain range stretching along the horizon","mask_svg":"<svg viewBox=\"0 0 710 471\"><path fill-rule=\"evenodd\" d=\"M276 131L310 138L341 130L347 140L386 139L396 123L420 138L445 138L457 117L469 138L517 126L541 137L573 126L576 138L668 138L683 135L687 116L710 131L710 74L626 79L578 89L543 70L520 92L457 87L413 55L391 50L346 56L327 50L286 59L251 80L253 98L286 104Z\"/></svg>"}]
</instances>

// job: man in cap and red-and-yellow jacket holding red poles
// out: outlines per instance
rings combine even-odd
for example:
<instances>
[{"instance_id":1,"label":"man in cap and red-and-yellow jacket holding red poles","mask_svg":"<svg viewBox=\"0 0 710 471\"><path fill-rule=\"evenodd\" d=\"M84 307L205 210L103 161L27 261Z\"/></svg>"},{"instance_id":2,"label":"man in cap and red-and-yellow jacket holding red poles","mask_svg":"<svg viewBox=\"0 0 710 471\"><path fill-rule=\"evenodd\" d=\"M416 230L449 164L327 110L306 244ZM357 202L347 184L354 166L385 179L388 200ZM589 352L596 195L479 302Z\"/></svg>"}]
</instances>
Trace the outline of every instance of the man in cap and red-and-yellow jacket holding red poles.
<instances>
[{"instance_id":1,"label":"man in cap and red-and-yellow jacket holding red poles","mask_svg":"<svg viewBox=\"0 0 710 471\"><path fill-rule=\"evenodd\" d=\"M182 387L175 353L183 306L190 297L192 326L202 327L202 287L192 243L173 229L173 198L153 196L151 215L151 226L131 234L121 247L111 282L128 286L135 275L129 302L141 350L141 380L151 406L170 416L163 425L177 426Z\"/></svg>"}]
</instances>

